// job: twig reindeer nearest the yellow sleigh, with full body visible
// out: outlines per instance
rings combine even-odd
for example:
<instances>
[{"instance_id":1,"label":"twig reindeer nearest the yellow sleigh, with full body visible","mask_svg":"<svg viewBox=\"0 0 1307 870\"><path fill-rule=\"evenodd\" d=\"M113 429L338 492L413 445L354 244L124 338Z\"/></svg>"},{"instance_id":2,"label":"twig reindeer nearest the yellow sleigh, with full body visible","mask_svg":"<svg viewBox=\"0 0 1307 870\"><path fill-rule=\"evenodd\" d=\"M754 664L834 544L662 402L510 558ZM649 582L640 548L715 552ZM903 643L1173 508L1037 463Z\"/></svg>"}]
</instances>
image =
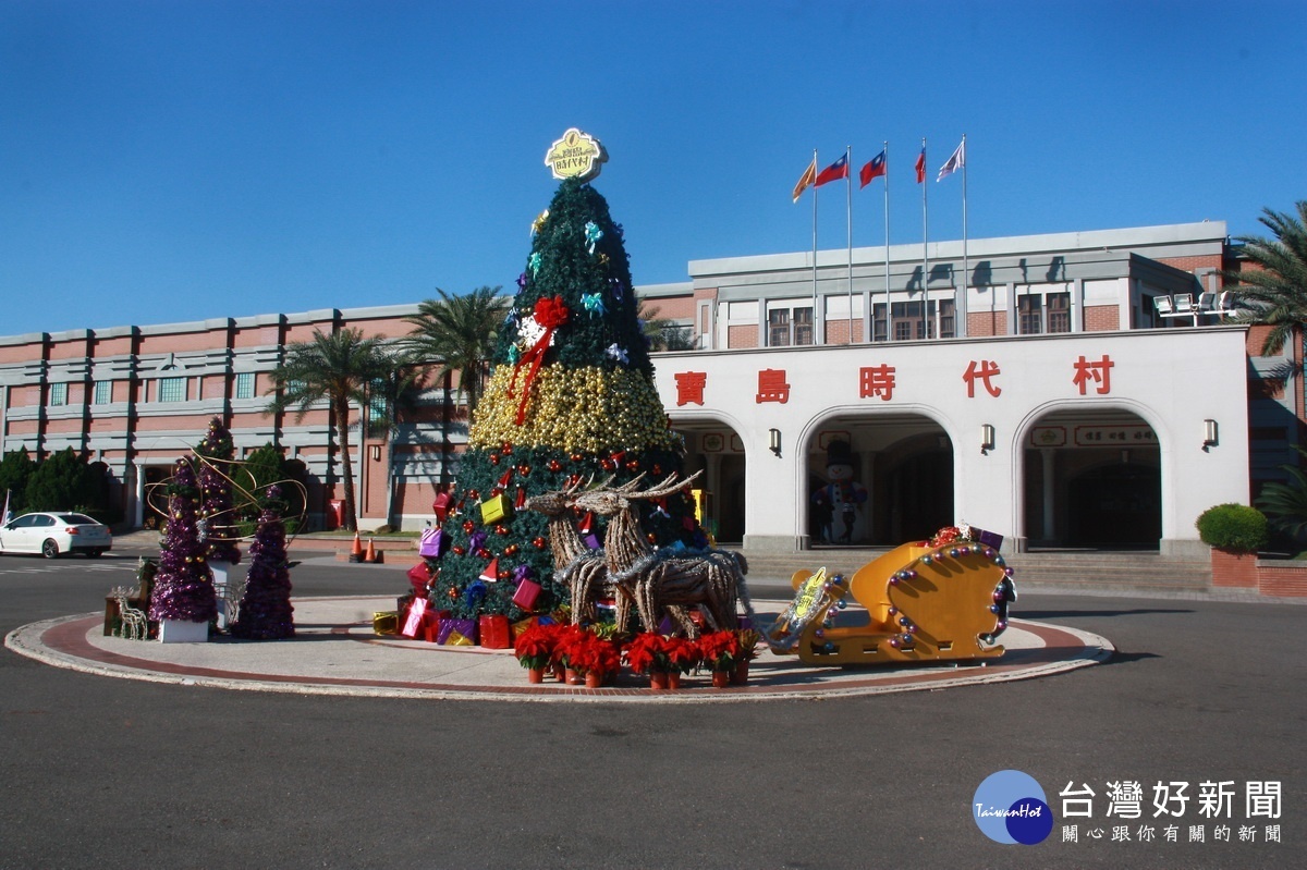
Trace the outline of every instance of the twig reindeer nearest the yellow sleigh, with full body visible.
<instances>
[{"instance_id":1,"label":"twig reindeer nearest the yellow sleigh, with full body visible","mask_svg":"<svg viewBox=\"0 0 1307 870\"><path fill-rule=\"evenodd\" d=\"M576 492L571 500L582 509L609 517L605 536L608 581L616 588L631 589L640 622L647 631L657 630L657 618L668 610L694 636L698 628L686 615L686 607L703 606L707 619L716 628L733 628L736 607L742 600L753 611L745 588L748 566L744 556L725 550L682 554L665 547L655 550L640 528L635 502L663 498L693 482L702 472L677 481L672 474L661 483L635 490L640 478L610 489L606 486ZM640 475L643 477L643 475Z\"/></svg>"}]
</instances>

